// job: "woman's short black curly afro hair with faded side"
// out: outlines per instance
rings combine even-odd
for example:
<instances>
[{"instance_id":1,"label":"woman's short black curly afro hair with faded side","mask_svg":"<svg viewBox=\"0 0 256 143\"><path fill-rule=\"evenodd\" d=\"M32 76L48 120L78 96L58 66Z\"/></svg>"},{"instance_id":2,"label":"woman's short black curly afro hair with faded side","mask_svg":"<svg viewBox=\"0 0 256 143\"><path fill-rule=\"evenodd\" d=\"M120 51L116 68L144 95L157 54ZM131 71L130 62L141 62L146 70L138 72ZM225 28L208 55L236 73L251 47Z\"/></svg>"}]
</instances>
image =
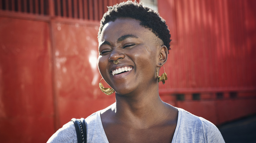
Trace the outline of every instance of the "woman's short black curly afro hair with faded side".
<instances>
[{"instance_id":1,"label":"woman's short black curly afro hair with faded side","mask_svg":"<svg viewBox=\"0 0 256 143\"><path fill-rule=\"evenodd\" d=\"M149 28L164 45L170 50L171 35L165 20L160 17L157 11L143 6L141 2L126 1L116 4L113 7L108 7L108 11L103 15L100 21L98 39L105 24L110 21L115 21L117 18L133 18L140 21L140 25Z\"/></svg>"}]
</instances>

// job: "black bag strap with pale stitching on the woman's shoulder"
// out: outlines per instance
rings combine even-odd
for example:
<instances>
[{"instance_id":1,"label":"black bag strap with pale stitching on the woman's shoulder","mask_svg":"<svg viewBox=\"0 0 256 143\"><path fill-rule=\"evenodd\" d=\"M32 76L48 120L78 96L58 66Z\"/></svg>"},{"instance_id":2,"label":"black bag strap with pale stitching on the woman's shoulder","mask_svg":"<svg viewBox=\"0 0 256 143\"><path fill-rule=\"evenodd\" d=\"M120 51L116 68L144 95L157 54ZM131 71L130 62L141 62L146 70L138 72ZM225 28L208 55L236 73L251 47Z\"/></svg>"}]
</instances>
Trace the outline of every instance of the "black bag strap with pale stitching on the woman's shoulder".
<instances>
[{"instance_id":1,"label":"black bag strap with pale stitching on the woman's shoulder","mask_svg":"<svg viewBox=\"0 0 256 143\"><path fill-rule=\"evenodd\" d=\"M77 142L78 143L85 143L86 142L86 122L84 118L81 119L71 119L71 121L74 122L75 125L75 131L77 136Z\"/></svg>"}]
</instances>

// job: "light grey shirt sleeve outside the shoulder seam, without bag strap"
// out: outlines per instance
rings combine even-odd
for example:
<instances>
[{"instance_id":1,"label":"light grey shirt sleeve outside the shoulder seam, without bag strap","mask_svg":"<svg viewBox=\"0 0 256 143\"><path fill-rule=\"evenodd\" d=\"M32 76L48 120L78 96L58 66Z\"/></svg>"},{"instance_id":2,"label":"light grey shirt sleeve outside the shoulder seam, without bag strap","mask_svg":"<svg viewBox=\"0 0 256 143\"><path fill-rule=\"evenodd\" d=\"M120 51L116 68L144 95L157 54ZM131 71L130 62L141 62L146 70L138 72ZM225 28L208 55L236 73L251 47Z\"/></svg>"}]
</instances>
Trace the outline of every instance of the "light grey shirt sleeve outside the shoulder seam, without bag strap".
<instances>
[{"instance_id":1,"label":"light grey shirt sleeve outside the shoulder seam, without bag strap","mask_svg":"<svg viewBox=\"0 0 256 143\"><path fill-rule=\"evenodd\" d=\"M204 142L205 143L225 143L219 129L210 121L201 118Z\"/></svg>"}]
</instances>

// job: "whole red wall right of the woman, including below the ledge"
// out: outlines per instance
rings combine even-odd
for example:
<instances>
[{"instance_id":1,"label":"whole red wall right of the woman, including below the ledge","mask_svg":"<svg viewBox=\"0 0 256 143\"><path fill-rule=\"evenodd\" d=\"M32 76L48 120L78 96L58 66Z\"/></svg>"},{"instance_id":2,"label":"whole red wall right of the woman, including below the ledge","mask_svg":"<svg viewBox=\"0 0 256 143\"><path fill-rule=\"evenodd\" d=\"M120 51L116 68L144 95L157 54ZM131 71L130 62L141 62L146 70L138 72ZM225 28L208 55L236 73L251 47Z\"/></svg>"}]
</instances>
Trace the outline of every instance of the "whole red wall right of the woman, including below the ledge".
<instances>
[{"instance_id":1,"label":"whole red wall right of the woman, including below the ledge","mask_svg":"<svg viewBox=\"0 0 256 143\"><path fill-rule=\"evenodd\" d=\"M162 99L215 124L256 113L256 2L159 0L172 35ZM200 94L193 100L193 94ZM184 100L176 100L183 94Z\"/></svg>"}]
</instances>

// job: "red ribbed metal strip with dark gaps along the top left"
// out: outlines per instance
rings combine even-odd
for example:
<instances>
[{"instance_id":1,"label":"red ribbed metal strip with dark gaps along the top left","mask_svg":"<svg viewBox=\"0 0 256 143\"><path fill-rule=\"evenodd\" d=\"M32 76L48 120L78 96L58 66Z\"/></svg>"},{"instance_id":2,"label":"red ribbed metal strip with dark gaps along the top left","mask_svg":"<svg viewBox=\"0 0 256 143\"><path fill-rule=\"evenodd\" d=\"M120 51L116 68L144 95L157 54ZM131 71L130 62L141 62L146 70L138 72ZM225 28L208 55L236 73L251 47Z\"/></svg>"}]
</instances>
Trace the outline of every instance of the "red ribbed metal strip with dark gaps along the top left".
<instances>
[{"instance_id":1,"label":"red ribbed metal strip with dark gaps along the top left","mask_svg":"<svg viewBox=\"0 0 256 143\"><path fill-rule=\"evenodd\" d=\"M107 6L123 0L0 0L0 9L52 17L99 21Z\"/></svg>"}]
</instances>

